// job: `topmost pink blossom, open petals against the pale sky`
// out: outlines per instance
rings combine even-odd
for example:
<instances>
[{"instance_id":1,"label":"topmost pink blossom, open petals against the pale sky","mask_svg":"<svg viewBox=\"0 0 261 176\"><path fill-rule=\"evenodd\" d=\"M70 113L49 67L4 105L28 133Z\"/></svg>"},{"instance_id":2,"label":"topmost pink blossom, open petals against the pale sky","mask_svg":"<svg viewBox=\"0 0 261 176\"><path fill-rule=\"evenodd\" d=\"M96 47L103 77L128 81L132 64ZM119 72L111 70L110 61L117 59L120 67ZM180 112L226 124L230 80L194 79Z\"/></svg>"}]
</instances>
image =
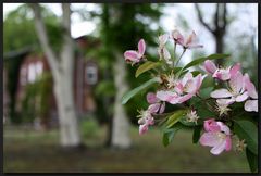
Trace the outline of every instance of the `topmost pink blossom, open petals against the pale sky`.
<instances>
[{"instance_id":1,"label":"topmost pink blossom, open petals against the pale sky","mask_svg":"<svg viewBox=\"0 0 261 176\"><path fill-rule=\"evenodd\" d=\"M202 45L197 43L196 33L192 32L187 39L184 39L184 36L177 30L172 32L172 38L174 41L181 46L183 46L185 49L192 49L192 48L202 48Z\"/></svg>"}]
</instances>

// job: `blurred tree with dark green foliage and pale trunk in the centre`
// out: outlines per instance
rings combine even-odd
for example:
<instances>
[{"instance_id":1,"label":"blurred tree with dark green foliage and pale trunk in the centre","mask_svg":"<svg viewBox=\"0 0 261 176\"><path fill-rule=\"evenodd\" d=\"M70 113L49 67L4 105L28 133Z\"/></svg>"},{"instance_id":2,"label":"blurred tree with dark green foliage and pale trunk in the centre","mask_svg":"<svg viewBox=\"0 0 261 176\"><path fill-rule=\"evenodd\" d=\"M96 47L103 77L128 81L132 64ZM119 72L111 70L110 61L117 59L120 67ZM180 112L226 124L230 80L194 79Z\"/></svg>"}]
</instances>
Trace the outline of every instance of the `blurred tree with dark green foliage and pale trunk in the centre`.
<instances>
[{"instance_id":1,"label":"blurred tree with dark green foliage and pale trunk in the centre","mask_svg":"<svg viewBox=\"0 0 261 176\"><path fill-rule=\"evenodd\" d=\"M134 78L134 70L124 62L123 52L137 46L140 38L145 38L147 43L156 45L153 36L159 34L159 28L151 29L150 24L157 23L160 17L160 5L157 4L102 4L101 14L101 40L103 43L103 54L107 64L103 67L103 80L114 79L115 97L114 110L107 111L109 115L108 146L127 148L130 144L128 135L129 124L124 106L121 104L123 95L128 89L125 73L132 72L128 80ZM124 22L124 24L123 24ZM158 34L157 34L158 33ZM113 68L113 72L111 72ZM144 77L146 78L146 76ZM130 87L139 83L132 83ZM103 105L109 108L112 98L103 97ZM136 105L141 104L140 99L136 100ZM139 106L140 108L140 106ZM136 110L135 110L136 113ZM134 114L134 113L132 113Z\"/></svg>"}]
</instances>

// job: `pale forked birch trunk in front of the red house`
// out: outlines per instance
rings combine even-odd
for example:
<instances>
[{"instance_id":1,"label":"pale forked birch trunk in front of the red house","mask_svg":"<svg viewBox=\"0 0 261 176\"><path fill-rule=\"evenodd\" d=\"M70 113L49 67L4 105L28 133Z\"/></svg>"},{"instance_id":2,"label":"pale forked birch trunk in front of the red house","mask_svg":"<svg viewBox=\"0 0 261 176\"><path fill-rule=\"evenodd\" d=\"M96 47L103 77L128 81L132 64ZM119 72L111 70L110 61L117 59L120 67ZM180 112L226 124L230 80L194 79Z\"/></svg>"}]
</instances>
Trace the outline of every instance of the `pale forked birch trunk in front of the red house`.
<instances>
[{"instance_id":1,"label":"pale forked birch trunk in front of the red house","mask_svg":"<svg viewBox=\"0 0 261 176\"><path fill-rule=\"evenodd\" d=\"M30 3L29 5L34 11L36 32L54 79L61 146L78 147L80 136L73 99L74 45L71 38L70 4L62 3L62 26L64 32L63 45L59 54L55 54L50 47L39 4Z\"/></svg>"}]
</instances>

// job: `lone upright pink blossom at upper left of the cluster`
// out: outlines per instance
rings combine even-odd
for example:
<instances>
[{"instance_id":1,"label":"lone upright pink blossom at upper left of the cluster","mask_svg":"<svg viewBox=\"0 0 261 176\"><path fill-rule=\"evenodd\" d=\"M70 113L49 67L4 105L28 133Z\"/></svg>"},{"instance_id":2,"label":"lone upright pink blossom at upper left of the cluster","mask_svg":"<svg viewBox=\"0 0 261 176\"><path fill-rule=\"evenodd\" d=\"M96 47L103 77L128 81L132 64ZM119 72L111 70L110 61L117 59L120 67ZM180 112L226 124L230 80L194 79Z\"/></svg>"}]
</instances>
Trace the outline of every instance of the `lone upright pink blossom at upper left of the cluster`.
<instances>
[{"instance_id":1,"label":"lone upright pink blossom at upper left of the cluster","mask_svg":"<svg viewBox=\"0 0 261 176\"><path fill-rule=\"evenodd\" d=\"M126 62L130 62L132 64L140 62L144 56L146 49L146 43L144 39L140 39L138 42L138 51L128 50L124 52L124 58Z\"/></svg>"}]
</instances>

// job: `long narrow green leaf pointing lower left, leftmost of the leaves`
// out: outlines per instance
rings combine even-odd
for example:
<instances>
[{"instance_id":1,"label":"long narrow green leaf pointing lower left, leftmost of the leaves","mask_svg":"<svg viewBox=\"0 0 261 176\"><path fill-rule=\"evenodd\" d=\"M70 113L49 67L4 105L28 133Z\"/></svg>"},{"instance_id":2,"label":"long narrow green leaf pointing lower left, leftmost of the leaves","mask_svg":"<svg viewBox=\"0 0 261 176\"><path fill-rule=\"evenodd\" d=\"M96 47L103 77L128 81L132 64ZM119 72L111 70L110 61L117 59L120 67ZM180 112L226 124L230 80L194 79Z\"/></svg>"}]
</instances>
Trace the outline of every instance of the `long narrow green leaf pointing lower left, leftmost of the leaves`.
<instances>
[{"instance_id":1,"label":"long narrow green leaf pointing lower left, leftmost of the leaves","mask_svg":"<svg viewBox=\"0 0 261 176\"><path fill-rule=\"evenodd\" d=\"M139 87L136 87L135 89L128 91L126 95L123 96L122 98L122 104L125 104L132 97L134 97L135 95L137 95L140 90L151 86L154 83L159 83L159 78L154 77L152 79L149 79L148 81L144 83L142 85L140 85Z\"/></svg>"}]
</instances>

